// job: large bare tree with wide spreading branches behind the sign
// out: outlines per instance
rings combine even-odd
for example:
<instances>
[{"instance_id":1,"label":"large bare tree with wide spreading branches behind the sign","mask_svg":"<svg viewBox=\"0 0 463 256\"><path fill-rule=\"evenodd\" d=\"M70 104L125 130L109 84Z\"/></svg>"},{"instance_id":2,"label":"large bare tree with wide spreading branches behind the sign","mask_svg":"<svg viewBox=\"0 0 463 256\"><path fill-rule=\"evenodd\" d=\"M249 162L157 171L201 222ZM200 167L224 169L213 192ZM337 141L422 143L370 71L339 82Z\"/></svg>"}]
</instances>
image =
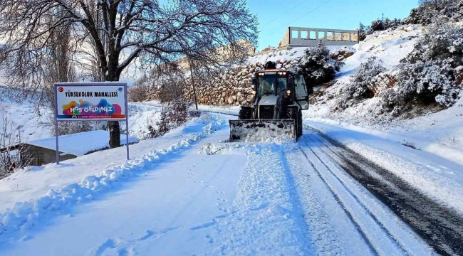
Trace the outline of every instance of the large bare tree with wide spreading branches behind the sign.
<instances>
[{"instance_id":1,"label":"large bare tree with wide spreading branches behind the sign","mask_svg":"<svg viewBox=\"0 0 463 256\"><path fill-rule=\"evenodd\" d=\"M53 20L52 26L47 21ZM182 55L212 61L208 50L242 50L256 44L257 20L246 0L2 0L0 65L9 84L33 87L43 72L51 30L68 25L76 48L95 48L106 81L117 81L135 60L156 65ZM118 122L110 122L110 146L120 146Z\"/></svg>"}]
</instances>

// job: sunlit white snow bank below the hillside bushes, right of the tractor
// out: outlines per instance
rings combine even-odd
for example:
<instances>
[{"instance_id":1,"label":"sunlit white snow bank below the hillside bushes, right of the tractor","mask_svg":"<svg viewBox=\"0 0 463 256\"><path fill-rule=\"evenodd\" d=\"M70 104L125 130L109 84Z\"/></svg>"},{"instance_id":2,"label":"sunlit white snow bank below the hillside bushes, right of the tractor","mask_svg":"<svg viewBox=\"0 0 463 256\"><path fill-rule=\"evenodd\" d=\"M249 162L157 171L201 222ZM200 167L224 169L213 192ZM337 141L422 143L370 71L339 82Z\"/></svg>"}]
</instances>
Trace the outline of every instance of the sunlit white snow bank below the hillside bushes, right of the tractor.
<instances>
[{"instance_id":1,"label":"sunlit white snow bank below the hillside bushes, right of the tractor","mask_svg":"<svg viewBox=\"0 0 463 256\"><path fill-rule=\"evenodd\" d=\"M306 119L315 122L373 134L463 165L463 92L459 97L459 101L447 110L412 119L374 118L370 106L370 103L375 104L373 99L361 103L358 107L348 108L342 114L330 113L326 105L318 109L320 113L316 114L322 117L314 117L310 112L303 112L303 114Z\"/></svg>"}]
</instances>

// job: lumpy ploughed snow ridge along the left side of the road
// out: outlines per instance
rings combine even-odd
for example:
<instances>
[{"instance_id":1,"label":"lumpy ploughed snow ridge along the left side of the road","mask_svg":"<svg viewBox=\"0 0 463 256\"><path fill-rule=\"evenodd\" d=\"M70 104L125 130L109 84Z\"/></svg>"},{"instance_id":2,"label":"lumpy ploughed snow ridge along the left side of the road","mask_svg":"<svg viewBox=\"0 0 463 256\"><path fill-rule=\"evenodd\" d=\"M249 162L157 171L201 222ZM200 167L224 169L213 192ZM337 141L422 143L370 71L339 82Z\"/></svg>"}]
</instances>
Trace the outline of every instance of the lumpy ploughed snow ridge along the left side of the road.
<instances>
[{"instance_id":1,"label":"lumpy ploughed snow ridge along the left side of the road","mask_svg":"<svg viewBox=\"0 0 463 256\"><path fill-rule=\"evenodd\" d=\"M217 119L204 127L203 132L192 134L187 139L172 144L167 149L151 151L137 159L127 161L121 166L105 169L98 174L86 176L79 183L71 183L60 189L51 189L38 199L14 203L11 209L0 213L0 240L12 238L16 230L32 228L47 218L63 215L78 203L93 200L96 194L110 193L110 189L130 180L140 171L152 168L165 159L169 159L195 142L209 136L223 127L224 119Z\"/></svg>"}]
</instances>

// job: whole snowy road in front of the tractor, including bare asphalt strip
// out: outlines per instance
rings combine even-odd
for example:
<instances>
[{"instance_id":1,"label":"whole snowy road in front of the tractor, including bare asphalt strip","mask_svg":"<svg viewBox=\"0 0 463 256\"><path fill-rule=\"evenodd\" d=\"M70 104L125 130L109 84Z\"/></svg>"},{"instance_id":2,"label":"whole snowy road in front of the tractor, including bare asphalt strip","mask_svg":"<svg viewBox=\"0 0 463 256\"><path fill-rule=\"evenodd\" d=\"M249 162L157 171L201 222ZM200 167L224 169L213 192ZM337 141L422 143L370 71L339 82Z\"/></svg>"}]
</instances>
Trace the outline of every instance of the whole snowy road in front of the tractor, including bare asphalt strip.
<instances>
[{"instance_id":1,"label":"whole snowy road in front of the tractor, including bare asphalt strip","mask_svg":"<svg viewBox=\"0 0 463 256\"><path fill-rule=\"evenodd\" d=\"M297 143L229 143L220 119L1 212L0 255L462 253L461 215L355 152L310 128Z\"/></svg>"}]
</instances>

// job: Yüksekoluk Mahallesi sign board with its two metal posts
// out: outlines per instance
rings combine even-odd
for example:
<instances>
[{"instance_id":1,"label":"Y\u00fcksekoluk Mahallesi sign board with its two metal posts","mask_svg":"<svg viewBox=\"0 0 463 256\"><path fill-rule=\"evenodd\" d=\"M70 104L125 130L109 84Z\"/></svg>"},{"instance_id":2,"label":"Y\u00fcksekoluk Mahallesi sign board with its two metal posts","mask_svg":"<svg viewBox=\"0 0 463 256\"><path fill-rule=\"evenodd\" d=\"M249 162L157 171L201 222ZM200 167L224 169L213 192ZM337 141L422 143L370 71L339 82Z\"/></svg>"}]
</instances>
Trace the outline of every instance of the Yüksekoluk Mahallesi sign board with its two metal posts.
<instances>
[{"instance_id":1,"label":"Y\u00fcksekoluk Mahallesi sign board with its two metal posts","mask_svg":"<svg viewBox=\"0 0 463 256\"><path fill-rule=\"evenodd\" d=\"M58 122L124 121L129 159L128 88L124 82L57 82L55 91L56 164L59 164ZM58 108L59 106L59 108Z\"/></svg>"}]
</instances>

